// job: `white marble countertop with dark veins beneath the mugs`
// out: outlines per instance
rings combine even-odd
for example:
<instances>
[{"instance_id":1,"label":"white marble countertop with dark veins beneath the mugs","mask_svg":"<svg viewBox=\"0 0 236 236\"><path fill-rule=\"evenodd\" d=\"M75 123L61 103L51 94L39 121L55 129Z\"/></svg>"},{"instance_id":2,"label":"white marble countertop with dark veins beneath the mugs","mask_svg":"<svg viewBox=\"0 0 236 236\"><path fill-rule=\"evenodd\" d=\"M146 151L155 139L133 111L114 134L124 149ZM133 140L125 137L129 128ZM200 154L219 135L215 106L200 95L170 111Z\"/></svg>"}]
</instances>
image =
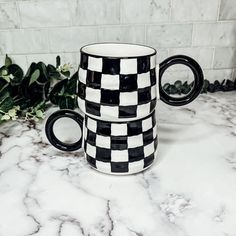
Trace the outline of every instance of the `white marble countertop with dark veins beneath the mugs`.
<instances>
[{"instance_id":1,"label":"white marble countertop with dark veins beneath the mugs","mask_svg":"<svg viewBox=\"0 0 236 236\"><path fill-rule=\"evenodd\" d=\"M43 127L0 126L0 236L235 236L236 93L158 103L158 160L132 176L63 153Z\"/></svg>"}]
</instances>

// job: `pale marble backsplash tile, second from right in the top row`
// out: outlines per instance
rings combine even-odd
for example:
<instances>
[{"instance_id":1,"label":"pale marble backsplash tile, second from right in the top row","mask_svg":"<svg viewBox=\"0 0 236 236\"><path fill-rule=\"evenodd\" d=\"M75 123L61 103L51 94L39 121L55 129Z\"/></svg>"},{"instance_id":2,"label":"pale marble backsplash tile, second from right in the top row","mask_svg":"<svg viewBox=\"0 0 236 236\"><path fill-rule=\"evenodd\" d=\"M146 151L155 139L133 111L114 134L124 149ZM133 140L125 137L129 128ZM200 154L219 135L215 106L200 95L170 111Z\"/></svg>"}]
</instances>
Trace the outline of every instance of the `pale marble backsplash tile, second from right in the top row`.
<instances>
[{"instance_id":1,"label":"pale marble backsplash tile, second from right in the top row","mask_svg":"<svg viewBox=\"0 0 236 236\"><path fill-rule=\"evenodd\" d=\"M172 21L216 20L217 0L172 0Z\"/></svg>"}]
</instances>

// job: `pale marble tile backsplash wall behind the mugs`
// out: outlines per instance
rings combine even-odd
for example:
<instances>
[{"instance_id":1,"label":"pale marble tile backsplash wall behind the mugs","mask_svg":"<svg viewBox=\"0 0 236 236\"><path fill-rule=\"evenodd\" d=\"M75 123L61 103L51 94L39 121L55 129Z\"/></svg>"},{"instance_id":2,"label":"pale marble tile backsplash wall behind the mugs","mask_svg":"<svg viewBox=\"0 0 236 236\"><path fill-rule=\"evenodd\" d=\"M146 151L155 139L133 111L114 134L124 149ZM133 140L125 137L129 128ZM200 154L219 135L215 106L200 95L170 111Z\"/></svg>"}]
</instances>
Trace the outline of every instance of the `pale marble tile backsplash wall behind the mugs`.
<instances>
[{"instance_id":1,"label":"pale marble tile backsplash wall behind the mugs","mask_svg":"<svg viewBox=\"0 0 236 236\"><path fill-rule=\"evenodd\" d=\"M236 77L235 0L0 0L0 64L8 53L77 69L79 49L93 42L131 42L158 50L158 61L186 54L206 79ZM169 71L172 79L185 75Z\"/></svg>"}]
</instances>

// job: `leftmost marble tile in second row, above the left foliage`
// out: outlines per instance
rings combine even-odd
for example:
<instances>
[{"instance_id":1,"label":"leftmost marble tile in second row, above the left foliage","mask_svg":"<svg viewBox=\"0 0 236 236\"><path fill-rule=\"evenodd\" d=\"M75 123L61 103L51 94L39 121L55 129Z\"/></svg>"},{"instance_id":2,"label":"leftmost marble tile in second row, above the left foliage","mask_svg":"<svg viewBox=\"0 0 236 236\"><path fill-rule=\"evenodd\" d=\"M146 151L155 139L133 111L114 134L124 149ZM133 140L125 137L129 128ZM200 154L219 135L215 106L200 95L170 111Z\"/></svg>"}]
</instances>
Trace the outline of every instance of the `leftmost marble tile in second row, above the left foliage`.
<instances>
[{"instance_id":1,"label":"leftmost marble tile in second row, above the left foliage","mask_svg":"<svg viewBox=\"0 0 236 236\"><path fill-rule=\"evenodd\" d=\"M43 30L0 31L0 52L12 54L49 52L47 33Z\"/></svg>"}]
</instances>

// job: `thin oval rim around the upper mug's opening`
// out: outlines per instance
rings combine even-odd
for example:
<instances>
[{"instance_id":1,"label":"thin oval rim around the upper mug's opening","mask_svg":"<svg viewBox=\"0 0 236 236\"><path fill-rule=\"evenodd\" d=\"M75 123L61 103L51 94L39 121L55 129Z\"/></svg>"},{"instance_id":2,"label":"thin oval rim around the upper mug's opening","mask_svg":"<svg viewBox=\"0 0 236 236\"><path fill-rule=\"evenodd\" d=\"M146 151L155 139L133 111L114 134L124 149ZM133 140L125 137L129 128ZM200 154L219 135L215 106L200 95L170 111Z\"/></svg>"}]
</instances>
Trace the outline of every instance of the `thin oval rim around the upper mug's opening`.
<instances>
[{"instance_id":1,"label":"thin oval rim around the upper mug's opening","mask_svg":"<svg viewBox=\"0 0 236 236\"><path fill-rule=\"evenodd\" d=\"M103 55L99 55L99 54L96 54L96 53L88 53L88 52L85 52L84 49L86 47L89 47L89 46L93 46L93 45L131 45L131 46L139 46L139 47L144 47L144 48L147 48L147 49L151 49L153 50L153 53L147 53L147 54L143 54L143 55L140 55L140 56L103 56ZM108 59L134 59L134 58L140 58L140 57L147 57L147 56L154 56L157 54L157 51L154 47L151 47L151 46L147 46L147 45L143 45L143 44L137 44L137 43L121 43L121 42L101 42L101 43L90 43L90 44L86 44L84 45L83 47L80 48L80 53L81 54L84 54L84 55L87 55L87 56L91 56L91 57L97 57L97 58L108 58Z\"/></svg>"}]
</instances>

